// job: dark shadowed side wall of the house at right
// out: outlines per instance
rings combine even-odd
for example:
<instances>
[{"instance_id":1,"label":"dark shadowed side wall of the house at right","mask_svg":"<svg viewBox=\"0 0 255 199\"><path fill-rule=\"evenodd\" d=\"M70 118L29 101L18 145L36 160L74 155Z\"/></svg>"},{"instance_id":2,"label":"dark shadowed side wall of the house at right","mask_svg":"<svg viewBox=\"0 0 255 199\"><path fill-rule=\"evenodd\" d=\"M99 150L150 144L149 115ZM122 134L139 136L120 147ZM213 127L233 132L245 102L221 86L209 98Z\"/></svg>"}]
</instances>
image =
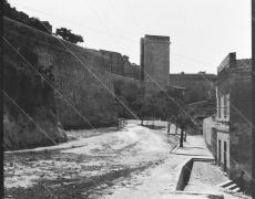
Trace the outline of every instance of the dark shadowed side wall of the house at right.
<instances>
[{"instance_id":1,"label":"dark shadowed side wall of the house at right","mask_svg":"<svg viewBox=\"0 0 255 199\"><path fill-rule=\"evenodd\" d=\"M242 170L246 187L252 175L252 84L251 77L235 78L231 90L231 178L236 179ZM239 112L239 113L238 113ZM249 175L249 176L248 176Z\"/></svg>"}]
</instances>

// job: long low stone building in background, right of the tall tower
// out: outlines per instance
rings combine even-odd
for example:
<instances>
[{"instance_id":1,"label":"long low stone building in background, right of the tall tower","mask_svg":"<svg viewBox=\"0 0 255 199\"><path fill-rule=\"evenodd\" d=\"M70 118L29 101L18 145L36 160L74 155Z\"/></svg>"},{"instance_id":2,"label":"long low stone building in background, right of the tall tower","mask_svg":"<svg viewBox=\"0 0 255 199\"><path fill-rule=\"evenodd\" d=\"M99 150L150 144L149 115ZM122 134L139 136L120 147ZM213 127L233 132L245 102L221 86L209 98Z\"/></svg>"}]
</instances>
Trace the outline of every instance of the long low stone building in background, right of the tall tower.
<instances>
[{"instance_id":1,"label":"long low stone building in background, right of the tall tower","mask_svg":"<svg viewBox=\"0 0 255 199\"><path fill-rule=\"evenodd\" d=\"M206 72L198 72L197 74L184 72L172 73L170 74L170 85L193 88L204 93L205 96L215 97L216 92L212 86L215 77L215 74L206 74Z\"/></svg>"}]
</instances>

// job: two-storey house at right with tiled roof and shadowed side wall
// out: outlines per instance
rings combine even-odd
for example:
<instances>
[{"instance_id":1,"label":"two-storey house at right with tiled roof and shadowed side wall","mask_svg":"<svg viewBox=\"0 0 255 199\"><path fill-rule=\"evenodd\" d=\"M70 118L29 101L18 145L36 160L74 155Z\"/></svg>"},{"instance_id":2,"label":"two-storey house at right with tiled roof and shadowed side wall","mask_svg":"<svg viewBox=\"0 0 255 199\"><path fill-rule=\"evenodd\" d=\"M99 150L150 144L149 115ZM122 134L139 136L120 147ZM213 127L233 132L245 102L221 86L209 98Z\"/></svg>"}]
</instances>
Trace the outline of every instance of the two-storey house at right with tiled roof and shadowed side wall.
<instances>
[{"instance_id":1,"label":"two-storey house at right with tiled roof and shadowed side wall","mask_svg":"<svg viewBox=\"0 0 255 199\"><path fill-rule=\"evenodd\" d=\"M212 153L230 179L235 180L242 170L248 187L252 174L252 60L236 60L230 53L217 69L217 114L211 133Z\"/></svg>"}]
</instances>

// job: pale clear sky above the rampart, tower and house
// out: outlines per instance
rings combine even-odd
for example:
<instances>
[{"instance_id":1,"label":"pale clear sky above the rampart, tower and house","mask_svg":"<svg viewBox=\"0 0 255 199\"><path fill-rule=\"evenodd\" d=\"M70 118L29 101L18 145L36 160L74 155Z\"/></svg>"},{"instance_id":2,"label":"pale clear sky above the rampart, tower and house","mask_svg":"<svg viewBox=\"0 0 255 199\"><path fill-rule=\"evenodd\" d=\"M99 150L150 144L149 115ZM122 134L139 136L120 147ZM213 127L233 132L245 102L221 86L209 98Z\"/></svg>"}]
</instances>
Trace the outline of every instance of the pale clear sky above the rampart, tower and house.
<instances>
[{"instance_id":1,"label":"pale clear sky above the rampart, tower and house","mask_svg":"<svg viewBox=\"0 0 255 199\"><path fill-rule=\"evenodd\" d=\"M79 45L140 64L140 39L170 36L170 73L216 74L231 52L252 57L251 0L8 0L18 11L71 29Z\"/></svg>"}]
</instances>

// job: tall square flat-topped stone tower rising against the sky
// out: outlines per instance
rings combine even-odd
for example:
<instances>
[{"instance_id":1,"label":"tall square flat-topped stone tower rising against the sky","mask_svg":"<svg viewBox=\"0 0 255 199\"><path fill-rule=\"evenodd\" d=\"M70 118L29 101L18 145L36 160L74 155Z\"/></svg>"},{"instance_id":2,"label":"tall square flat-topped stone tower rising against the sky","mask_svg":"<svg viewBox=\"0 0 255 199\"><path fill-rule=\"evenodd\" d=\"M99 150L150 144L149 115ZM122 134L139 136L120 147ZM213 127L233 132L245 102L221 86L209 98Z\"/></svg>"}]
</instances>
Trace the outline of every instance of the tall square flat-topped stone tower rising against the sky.
<instances>
[{"instance_id":1,"label":"tall square flat-topped stone tower rising against the sky","mask_svg":"<svg viewBox=\"0 0 255 199\"><path fill-rule=\"evenodd\" d=\"M140 50L140 65L145 71L141 71L141 80L145 83L145 96L151 96L170 85L170 36L145 34Z\"/></svg>"}]
</instances>

